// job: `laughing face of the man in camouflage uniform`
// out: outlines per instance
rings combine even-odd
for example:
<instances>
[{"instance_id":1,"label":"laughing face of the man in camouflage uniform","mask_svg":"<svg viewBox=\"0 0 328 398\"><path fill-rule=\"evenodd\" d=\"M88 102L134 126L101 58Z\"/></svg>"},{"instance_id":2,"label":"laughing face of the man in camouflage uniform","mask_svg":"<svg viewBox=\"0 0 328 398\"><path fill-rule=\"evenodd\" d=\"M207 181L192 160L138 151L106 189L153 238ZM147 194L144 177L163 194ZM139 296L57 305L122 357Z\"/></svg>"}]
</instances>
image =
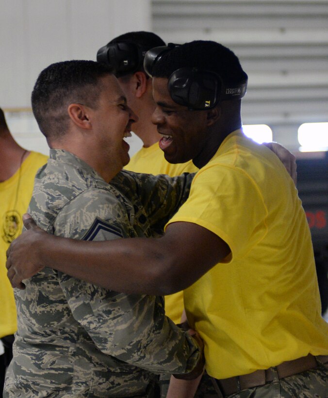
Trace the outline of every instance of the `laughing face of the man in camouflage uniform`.
<instances>
[{"instance_id":1,"label":"laughing face of the man in camouflage uniform","mask_svg":"<svg viewBox=\"0 0 328 398\"><path fill-rule=\"evenodd\" d=\"M126 97L113 75L99 80L101 92L93 110L93 131L99 156L110 162L111 169L119 170L130 160L129 144L124 137L131 136L131 124L138 120L127 105Z\"/></svg>"}]
</instances>

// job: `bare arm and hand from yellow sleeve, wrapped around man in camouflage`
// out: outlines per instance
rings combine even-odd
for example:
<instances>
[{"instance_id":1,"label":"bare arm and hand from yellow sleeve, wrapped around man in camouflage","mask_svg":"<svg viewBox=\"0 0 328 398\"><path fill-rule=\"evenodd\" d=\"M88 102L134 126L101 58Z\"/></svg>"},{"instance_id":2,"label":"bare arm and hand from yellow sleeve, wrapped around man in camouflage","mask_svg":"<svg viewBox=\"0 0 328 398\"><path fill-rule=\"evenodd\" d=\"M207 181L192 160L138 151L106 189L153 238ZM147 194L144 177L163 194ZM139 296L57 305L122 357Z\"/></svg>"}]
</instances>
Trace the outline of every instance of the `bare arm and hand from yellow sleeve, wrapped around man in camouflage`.
<instances>
[{"instance_id":1,"label":"bare arm and hand from yellow sleeve, wrapped around man in camouflage","mask_svg":"<svg viewBox=\"0 0 328 398\"><path fill-rule=\"evenodd\" d=\"M29 232L23 232L8 253L6 266L14 287L22 288L22 280L49 266L116 292L168 295L196 282L230 253L213 232L186 222L170 224L161 238L103 242L48 235L35 224Z\"/></svg>"}]
</instances>

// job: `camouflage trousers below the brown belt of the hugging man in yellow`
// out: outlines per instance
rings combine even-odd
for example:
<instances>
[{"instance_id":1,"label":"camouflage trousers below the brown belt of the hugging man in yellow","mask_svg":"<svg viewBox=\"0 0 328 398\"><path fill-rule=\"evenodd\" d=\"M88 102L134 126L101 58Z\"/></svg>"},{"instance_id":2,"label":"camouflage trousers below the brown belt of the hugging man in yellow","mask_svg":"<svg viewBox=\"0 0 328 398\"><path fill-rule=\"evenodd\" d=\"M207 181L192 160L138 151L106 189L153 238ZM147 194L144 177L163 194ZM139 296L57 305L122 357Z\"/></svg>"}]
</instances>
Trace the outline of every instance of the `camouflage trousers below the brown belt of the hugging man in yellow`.
<instances>
[{"instance_id":1,"label":"camouflage trousers below the brown belt of the hugging man in yellow","mask_svg":"<svg viewBox=\"0 0 328 398\"><path fill-rule=\"evenodd\" d=\"M328 398L328 364L279 379L275 367L274 380L259 387L247 388L238 393L224 396L214 388L213 378L203 375L195 398ZM161 397L165 398L169 380L161 380ZM192 397L191 397L192 398Z\"/></svg>"}]
</instances>

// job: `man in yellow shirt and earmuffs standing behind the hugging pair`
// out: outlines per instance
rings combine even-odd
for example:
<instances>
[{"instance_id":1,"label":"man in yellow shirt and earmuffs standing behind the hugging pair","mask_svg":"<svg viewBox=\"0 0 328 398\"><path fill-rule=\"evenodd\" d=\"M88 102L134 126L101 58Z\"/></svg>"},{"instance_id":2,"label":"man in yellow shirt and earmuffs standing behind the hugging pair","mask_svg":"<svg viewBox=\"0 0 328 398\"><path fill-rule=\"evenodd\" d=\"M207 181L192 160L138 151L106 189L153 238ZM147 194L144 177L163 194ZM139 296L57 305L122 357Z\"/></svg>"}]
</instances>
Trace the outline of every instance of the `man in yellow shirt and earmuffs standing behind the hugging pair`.
<instances>
[{"instance_id":1,"label":"man in yellow shirt and earmuffs standing behind the hugging pair","mask_svg":"<svg viewBox=\"0 0 328 398\"><path fill-rule=\"evenodd\" d=\"M124 33L101 47L98 50L97 60L114 68L115 76L128 99L129 106L139 116L138 121L133 124L133 133L142 140L143 146L124 168L136 173L167 174L175 177L182 173L197 172L198 167L192 160L185 163L169 163L158 145L162 135L157 132L156 125L151 121L151 115L156 107L152 96L152 79L144 69L146 51L158 46L165 46L165 43L153 32ZM125 62L122 62L123 59ZM286 165L286 162L289 162L289 158L286 158L288 151L284 151L284 148L277 143L266 145L288 167ZM165 297L166 315L175 323L180 323L182 311L182 292Z\"/></svg>"}]
</instances>

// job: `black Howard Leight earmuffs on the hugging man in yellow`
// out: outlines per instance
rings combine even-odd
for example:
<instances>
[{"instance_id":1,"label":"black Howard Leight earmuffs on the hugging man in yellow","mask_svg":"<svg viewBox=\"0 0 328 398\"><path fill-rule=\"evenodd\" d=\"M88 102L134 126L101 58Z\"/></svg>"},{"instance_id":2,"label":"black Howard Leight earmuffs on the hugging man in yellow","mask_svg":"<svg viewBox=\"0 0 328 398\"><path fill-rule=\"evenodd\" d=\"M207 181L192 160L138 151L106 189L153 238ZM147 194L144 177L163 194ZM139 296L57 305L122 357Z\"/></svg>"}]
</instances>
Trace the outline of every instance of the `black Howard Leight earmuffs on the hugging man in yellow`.
<instances>
[{"instance_id":1,"label":"black Howard Leight earmuffs on the hugging man in yellow","mask_svg":"<svg viewBox=\"0 0 328 398\"><path fill-rule=\"evenodd\" d=\"M144 69L149 76L152 76L153 66L176 46L169 43L147 51ZM245 72L243 74L242 82L225 84L218 74L210 70L183 67L169 76L167 87L177 104L187 106L190 110L207 110L214 108L220 101L243 98L247 88L247 75Z\"/></svg>"}]
</instances>

